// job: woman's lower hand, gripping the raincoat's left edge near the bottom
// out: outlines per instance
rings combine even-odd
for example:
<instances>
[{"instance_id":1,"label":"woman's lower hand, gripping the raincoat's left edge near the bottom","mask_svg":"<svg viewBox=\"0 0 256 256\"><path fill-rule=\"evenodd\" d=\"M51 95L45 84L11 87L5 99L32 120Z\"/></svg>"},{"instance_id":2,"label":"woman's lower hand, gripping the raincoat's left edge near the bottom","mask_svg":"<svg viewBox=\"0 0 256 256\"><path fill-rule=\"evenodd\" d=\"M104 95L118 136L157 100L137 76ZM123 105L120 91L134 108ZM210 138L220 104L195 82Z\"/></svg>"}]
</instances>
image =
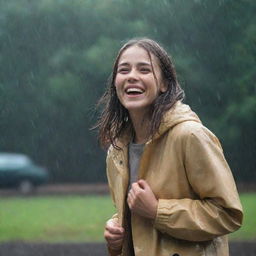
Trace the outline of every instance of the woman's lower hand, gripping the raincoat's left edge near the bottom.
<instances>
[{"instance_id":1,"label":"woman's lower hand, gripping the raincoat's left edge near the bottom","mask_svg":"<svg viewBox=\"0 0 256 256\"><path fill-rule=\"evenodd\" d=\"M110 219L106 223L104 237L111 250L119 251L122 249L124 228L115 219Z\"/></svg>"}]
</instances>

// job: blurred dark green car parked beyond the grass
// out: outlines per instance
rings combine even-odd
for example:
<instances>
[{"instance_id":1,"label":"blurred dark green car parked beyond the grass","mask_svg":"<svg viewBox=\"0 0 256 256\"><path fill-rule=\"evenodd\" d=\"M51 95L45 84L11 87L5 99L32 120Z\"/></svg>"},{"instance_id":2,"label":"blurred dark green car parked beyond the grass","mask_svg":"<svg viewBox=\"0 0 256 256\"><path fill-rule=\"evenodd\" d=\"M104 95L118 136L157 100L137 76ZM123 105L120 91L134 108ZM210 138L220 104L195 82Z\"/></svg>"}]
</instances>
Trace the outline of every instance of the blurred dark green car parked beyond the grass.
<instances>
[{"instance_id":1,"label":"blurred dark green car parked beyond the grass","mask_svg":"<svg viewBox=\"0 0 256 256\"><path fill-rule=\"evenodd\" d=\"M29 193L48 178L48 171L34 164L28 156L0 153L0 187L16 187L22 193Z\"/></svg>"}]
</instances>

